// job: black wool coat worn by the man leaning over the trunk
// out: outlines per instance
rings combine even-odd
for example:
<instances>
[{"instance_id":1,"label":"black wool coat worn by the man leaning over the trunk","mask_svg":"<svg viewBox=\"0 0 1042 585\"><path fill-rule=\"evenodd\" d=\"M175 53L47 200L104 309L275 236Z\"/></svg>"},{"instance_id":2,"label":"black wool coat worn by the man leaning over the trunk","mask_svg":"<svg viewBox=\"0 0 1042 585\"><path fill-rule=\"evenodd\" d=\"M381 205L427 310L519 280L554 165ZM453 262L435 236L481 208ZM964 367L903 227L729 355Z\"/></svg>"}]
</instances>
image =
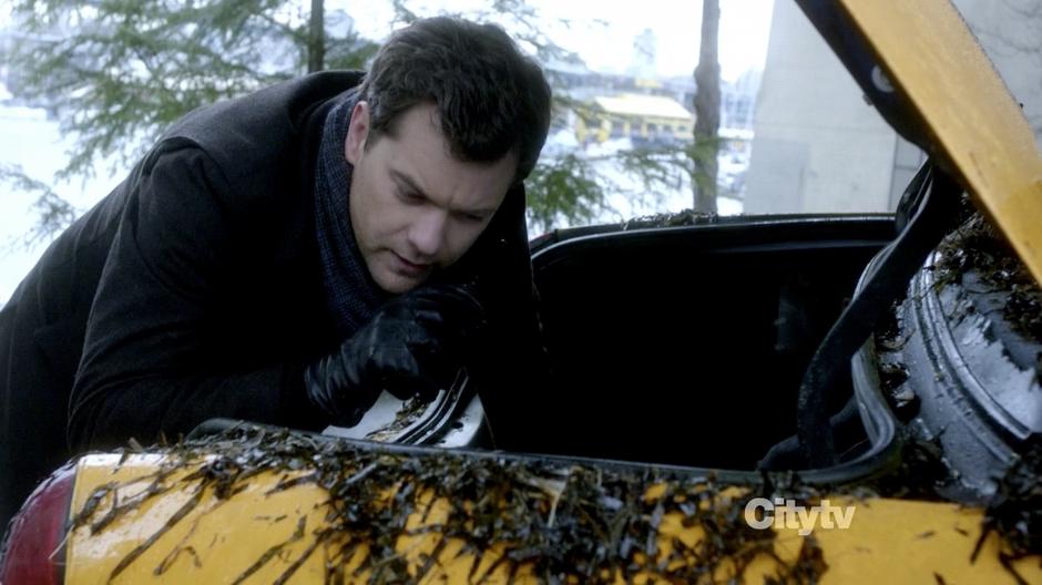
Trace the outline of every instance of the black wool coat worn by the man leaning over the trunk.
<instances>
[{"instance_id":1,"label":"black wool coat worn by the man leaning over the trunk","mask_svg":"<svg viewBox=\"0 0 1042 585\"><path fill-rule=\"evenodd\" d=\"M339 341L314 170L334 99L361 76L192 112L48 248L0 311L0 527L72 453L176 440L213 417L325 427L303 386ZM472 377L491 417L542 360L522 189L452 274L480 275L491 331Z\"/></svg>"}]
</instances>

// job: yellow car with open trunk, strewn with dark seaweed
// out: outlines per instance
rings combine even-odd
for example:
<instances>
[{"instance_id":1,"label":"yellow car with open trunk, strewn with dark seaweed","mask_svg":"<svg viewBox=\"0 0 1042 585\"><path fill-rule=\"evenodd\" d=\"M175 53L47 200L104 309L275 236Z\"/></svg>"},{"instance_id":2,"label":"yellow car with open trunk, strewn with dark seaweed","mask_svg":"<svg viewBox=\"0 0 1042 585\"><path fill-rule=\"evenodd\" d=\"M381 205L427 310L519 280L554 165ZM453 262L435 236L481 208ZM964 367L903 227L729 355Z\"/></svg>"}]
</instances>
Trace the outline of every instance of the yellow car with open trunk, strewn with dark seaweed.
<instances>
[{"instance_id":1,"label":"yellow car with open trunk, strewn with dark seaweed","mask_svg":"<svg viewBox=\"0 0 1042 585\"><path fill-rule=\"evenodd\" d=\"M1034 137L948 0L800 6L931 155L896 215L554 232L552 388L85 455L0 583L1042 583Z\"/></svg>"}]
</instances>

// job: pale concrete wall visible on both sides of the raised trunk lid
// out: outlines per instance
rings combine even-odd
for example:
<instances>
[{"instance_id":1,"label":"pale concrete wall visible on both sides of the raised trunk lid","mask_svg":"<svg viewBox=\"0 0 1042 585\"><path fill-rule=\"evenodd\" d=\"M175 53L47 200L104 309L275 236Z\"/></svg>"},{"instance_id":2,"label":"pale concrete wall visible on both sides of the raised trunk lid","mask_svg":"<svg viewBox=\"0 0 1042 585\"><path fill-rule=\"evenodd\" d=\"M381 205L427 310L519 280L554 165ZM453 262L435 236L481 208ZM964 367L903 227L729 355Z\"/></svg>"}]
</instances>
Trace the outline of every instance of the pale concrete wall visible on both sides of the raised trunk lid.
<instances>
[{"instance_id":1,"label":"pale concrete wall visible on both sides of the raised trunk lid","mask_svg":"<svg viewBox=\"0 0 1042 585\"><path fill-rule=\"evenodd\" d=\"M1042 0L956 0L1042 136ZM922 160L791 0L775 2L745 213L882 212Z\"/></svg>"}]
</instances>

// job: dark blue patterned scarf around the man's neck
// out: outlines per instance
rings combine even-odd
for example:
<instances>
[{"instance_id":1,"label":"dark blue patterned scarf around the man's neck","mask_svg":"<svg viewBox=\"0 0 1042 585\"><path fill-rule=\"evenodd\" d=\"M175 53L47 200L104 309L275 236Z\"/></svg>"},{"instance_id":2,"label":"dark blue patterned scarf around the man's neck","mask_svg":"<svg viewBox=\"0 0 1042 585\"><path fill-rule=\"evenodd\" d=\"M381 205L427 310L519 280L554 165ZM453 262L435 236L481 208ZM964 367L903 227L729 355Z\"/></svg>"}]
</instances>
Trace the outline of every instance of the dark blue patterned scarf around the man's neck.
<instances>
[{"instance_id":1,"label":"dark blue patterned scarf around the man's neck","mask_svg":"<svg viewBox=\"0 0 1042 585\"><path fill-rule=\"evenodd\" d=\"M372 280L358 250L348 213L353 166L344 141L358 102L357 90L337 99L326 116L315 173L315 232L321 257L326 307L346 339L372 318L387 295Z\"/></svg>"}]
</instances>

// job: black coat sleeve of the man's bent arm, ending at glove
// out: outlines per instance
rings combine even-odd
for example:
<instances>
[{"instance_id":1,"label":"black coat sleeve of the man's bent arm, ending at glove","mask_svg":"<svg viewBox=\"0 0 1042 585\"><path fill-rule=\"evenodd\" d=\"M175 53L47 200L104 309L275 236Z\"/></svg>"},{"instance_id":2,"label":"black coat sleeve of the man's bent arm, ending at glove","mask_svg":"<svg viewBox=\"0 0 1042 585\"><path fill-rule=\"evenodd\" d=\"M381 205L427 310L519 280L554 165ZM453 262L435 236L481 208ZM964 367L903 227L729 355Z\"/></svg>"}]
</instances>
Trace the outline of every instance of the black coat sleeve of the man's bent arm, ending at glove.
<instances>
[{"instance_id":1,"label":"black coat sleeve of the man's bent arm, ending at glove","mask_svg":"<svg viewBox=\"0 0 1042 585\"><path fill-rule=\"evenodd\" d=\"M215 287L241 254L221 168L175 138L136 173L88 320L70 399L72 449L174 440L213 417L316 424L303 365L222 371L219 359L201 355Z\"/></svg>"}]
</instances>

